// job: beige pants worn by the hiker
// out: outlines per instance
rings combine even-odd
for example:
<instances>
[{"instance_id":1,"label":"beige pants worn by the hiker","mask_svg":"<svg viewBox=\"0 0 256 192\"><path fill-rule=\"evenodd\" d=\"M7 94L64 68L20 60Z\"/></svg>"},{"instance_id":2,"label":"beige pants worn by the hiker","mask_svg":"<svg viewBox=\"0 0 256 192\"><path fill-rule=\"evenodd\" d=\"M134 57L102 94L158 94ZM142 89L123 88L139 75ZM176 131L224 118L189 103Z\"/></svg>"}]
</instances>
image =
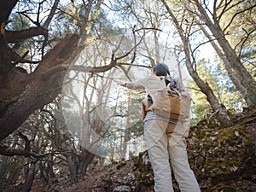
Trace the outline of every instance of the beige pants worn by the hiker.
<instances>
[{"instance_id":1,"label":"beige pants worn by the hiker","mask_svg":"<svg viewBox=\"0 0 256 192\"><path fill-rule=\"evenodd\" d=\"M144 123L144 135L154 171L154 190L173 192L170 159L181 192L201 191L194 172L189 167L183 134L178 131L166 134L170 126L173 125L161 119L148 120Z\"/></svg>"}]
</instances>

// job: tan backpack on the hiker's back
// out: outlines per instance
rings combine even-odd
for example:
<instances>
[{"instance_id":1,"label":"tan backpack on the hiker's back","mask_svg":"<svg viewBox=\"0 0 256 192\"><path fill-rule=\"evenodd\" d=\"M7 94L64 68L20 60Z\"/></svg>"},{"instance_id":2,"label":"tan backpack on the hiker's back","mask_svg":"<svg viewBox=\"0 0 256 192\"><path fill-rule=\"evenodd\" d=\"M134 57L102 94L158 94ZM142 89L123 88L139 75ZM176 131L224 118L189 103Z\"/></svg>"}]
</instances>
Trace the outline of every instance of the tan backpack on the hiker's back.
<instances>
[{"instance_id":1,"label":"tan backpack on the hiker's back","mask_svg":"<svg viewBox=\"0 0 256 192\"><path fill-rule=\"evenodd\" d=\"M191 104L189 92L179 91L177 81L172 78L168 84L166 79L161 81L154 98L154 113L174 120L188 118Z\"/></svg>"}]
</instances>

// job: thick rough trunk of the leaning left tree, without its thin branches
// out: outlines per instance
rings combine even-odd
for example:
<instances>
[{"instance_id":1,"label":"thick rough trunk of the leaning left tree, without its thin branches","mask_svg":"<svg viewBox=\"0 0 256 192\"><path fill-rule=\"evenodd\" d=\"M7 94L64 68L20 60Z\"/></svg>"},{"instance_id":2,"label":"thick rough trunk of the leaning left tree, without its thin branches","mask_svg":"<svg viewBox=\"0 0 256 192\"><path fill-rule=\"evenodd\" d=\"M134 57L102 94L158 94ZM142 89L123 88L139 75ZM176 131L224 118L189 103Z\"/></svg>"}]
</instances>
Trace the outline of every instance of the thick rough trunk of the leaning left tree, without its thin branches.
<instances>
[{"instance_id":1,"label":"thick rough trunk of the leaning left tree, without its thin branches","mask_svg":"<svg viewBox=\"0 0 256 192\"><path fill-rule=\"evenodd\" d=\"M0 83L4 84L0 94L0 141L15 131L31 113L51 102L61 92L63 73L52 74L48 79L44 79L44 73L66 61L72 55L78 39L78 35L64 38L44 56L33 73L19 73L13 67L0 77Z\"/></svg>"}]
</instances>

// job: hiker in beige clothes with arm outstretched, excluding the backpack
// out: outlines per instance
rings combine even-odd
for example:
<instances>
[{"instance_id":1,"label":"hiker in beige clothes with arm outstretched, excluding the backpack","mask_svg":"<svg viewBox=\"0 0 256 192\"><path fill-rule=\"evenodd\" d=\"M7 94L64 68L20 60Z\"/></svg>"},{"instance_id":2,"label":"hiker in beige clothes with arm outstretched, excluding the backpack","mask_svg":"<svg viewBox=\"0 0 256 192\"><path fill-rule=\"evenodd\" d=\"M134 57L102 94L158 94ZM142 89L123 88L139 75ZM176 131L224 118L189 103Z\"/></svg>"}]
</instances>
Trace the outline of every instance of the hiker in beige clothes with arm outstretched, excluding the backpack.
<instances>
[{"instance_id":1,"label":"hiker in beige clothes with arm outstretched, excluding the backpack","mask_svg":"<svg viewBox=\"0 0 256 192\"><path fill-rule=\"evenodd\" d=\"M172 192L171 161L179 189L187 192L201 191L195 174L189 167L185 137L189 133L189 118L173 120L154 113L156 90L167 79L170 72L166 64L160 63L153 68L153 74L136 82L120 83L129 89L145 89L152 99L144 119L144 136L149 159L154 171L154 190Z\"/></svg>"}]
</instances>

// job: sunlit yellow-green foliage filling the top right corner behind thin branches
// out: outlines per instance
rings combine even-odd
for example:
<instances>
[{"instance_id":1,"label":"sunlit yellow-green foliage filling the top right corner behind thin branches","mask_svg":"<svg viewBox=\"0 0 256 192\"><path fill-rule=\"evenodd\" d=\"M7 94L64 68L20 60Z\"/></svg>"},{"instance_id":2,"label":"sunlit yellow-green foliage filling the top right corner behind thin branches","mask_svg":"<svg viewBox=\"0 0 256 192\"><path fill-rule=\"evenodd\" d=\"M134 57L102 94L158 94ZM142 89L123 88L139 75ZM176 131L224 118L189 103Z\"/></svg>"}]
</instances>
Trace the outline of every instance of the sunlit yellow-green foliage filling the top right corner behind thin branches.
<instances>
[{"instance_id":1,"label":"sunlit yellow-green foliage filling the top right corner behind thin branches","mask_svg":"<svg viewBox=\"0 0 256 192\"><path fill-rule=\"evenodd\" d=\"M220 23L223 27L226 27L226 38L231 46L236 49L237 55L241 56L241 61L246 65L247 70L252 73L255 70L253 62L255 63L256 58L256 31L255 19L253 19L256 17L255 7L253 9L255 2L253 0L233 0L231 4L236 3L236 6L224 13Z\"/></svg>"}]
</instances>

